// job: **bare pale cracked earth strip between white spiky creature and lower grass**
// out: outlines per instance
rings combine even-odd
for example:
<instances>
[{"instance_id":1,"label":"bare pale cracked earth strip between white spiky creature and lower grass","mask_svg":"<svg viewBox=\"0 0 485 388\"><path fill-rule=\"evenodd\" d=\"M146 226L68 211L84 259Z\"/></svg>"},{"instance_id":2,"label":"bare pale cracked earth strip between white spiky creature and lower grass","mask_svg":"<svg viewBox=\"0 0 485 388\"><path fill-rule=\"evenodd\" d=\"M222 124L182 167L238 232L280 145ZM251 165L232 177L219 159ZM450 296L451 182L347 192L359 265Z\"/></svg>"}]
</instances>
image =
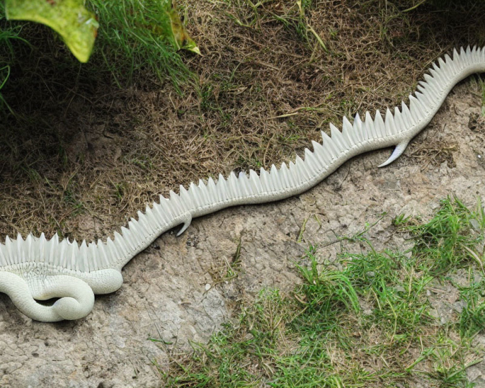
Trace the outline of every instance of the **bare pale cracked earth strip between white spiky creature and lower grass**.
<instances>
[{"instance_id":1,"label":"bare pale cracked earth strip between white spiky creature and lower grass","mask_svg":"<svg viewBox=\"0 0 485 388\"><path fill-rule=\"evenodd\" d=\"M32 322L0 295L0 386L158 387L153 363L163 369L167 351L187 348L189 339L207 340L238 301L264 286L291 290L298 281L294 263L309 244L319 246L321 261L332 260L340 249L336 235L358 232L386 212L369 232L372 242L377 249L405 249L401 236L390 233L394 216L426 218L448 194L467 204L485 199L485 125L474 120L479 113L478 87L464 81L390 166L376 167L389 150L358 156L298 197L196 219L178 238L165 233L125 267L122 288L98 296L80 321ZM218 283L239 242L238 276ZM430 296L442 322L453 314L457 296ZM484 335L476 341L485 347ZM485 387L485 362L468 373L476 387Z\"/></svg>"}]
</instances>

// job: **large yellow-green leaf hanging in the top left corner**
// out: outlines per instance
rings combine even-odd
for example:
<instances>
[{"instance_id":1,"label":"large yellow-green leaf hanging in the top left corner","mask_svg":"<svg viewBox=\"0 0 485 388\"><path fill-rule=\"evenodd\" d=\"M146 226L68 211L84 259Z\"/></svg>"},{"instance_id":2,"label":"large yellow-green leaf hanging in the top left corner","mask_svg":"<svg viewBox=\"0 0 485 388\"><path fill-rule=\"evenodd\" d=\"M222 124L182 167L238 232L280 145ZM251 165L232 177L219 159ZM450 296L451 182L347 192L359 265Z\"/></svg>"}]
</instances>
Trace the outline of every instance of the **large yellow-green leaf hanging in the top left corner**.
<instances>
[{"instance_id":1,"label":"large yellow-green leaf hanging in the top left corner","mask_svg":"<svg viewBox=\"0 0 485 388\"><path fill-rule=\"evenodd\" d=\"M30 20L58 32L80 62L87 62L93 50L98 23L83 0L5 0L8 19Z\"/></svg>"}]
</instances>

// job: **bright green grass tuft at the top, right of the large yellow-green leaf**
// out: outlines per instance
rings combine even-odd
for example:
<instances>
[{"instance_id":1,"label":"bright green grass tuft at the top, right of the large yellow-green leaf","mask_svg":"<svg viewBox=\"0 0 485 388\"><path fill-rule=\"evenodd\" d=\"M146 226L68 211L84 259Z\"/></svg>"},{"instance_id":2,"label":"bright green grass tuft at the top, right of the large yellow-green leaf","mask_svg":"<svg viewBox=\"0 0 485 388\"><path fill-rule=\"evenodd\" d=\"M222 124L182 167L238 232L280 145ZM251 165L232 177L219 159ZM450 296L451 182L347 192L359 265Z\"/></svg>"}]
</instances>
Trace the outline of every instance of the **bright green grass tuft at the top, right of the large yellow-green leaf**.
<instances>
[{"instance_id":1,"label":"bright green grass tuft at the top, right of the large yellow-green leaf","mask_svg":"<svg viewBox=\"0 0 485 388\"><path fill-rule=\"evenodd\" d=\"M156 78L179 82L193 79L180 55L166 38L169 20L164 1L88 0L99 18L94 55L121 87L139 71L151 71Z\"/></svg>"}]
</instances>

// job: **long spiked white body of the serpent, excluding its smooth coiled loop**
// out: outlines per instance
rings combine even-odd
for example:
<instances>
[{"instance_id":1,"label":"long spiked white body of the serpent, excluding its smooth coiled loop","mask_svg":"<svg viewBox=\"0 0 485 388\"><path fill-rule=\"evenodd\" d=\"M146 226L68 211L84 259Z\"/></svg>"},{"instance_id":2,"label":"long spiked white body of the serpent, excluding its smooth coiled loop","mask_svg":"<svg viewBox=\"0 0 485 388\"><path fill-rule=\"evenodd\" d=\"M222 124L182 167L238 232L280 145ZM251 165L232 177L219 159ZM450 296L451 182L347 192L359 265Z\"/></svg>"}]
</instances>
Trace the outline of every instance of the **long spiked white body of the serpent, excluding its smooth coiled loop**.
<instances>
[{"instance_id":1,"label":"long spiked white body of the serpent, excluding its smooth coiled loop","mask_svg":"<svg viewBox=\"0 0 485 388\"><path fill-rule=\"evenodd\" d=\"M184 224L185 230L193 217L208 214L229 206L275 201L302 193L335 171L353 156L372 149L396 146L382 165L396 159L409 140L423 129L441 106L444 98L457 81L471 73L485 71L485 48L453 50L453 59L446 54L419 81L417 91L409 96L409 106L387 109L372 116L365 113L362 121L357 114L352 122L343 117L341 130L330 124L330 136L322 131L322 144L312 142L313 151L305 149L305 157L296 156L295 162L272 165L269 171L261 168L259 174L231 173L219 175L207 183L199 180L188 189L180 186L179 193L160 196L159 203L138 211L138 220L132 218L128 228L114 232L114 239L106 242L59 241L57 235L48 240L29 234L25 240L5 238L0 243L0 271L21 272L29 263L42 263L50 273L84 274L106 268L120 270L138 252L145 249L164 231Z\"/></svg>"}]
</instances>

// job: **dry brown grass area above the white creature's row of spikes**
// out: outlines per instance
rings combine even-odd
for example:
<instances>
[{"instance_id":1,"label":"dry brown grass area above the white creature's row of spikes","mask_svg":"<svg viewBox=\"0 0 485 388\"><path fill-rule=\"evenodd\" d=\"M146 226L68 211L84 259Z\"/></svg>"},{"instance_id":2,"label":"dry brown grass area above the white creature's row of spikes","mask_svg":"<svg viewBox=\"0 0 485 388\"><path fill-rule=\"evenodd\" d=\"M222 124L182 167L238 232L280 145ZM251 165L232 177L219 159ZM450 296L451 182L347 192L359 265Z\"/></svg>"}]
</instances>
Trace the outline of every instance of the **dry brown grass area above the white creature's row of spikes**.
<instances>
[{"instance_id":1,"label":"dry brown grass area above the white creature's row of spikes","mask_svg":"<svg viewBox=\"0 0 485 388\"><path fill-rule=\"evenodd\" d=\"M14 69L2 90L17 116L0 123L0 235L104 238L178 184L291 159L328 122L398 104L444 51L485 43L483 3L406 14L388 1L313 3L299 32L294 1L183 2L203 53L186 55L198 82L183 95L148 72L117 90L41 52L33 82L22 84L28 65Z\"/></svg>"}]
</instances>

